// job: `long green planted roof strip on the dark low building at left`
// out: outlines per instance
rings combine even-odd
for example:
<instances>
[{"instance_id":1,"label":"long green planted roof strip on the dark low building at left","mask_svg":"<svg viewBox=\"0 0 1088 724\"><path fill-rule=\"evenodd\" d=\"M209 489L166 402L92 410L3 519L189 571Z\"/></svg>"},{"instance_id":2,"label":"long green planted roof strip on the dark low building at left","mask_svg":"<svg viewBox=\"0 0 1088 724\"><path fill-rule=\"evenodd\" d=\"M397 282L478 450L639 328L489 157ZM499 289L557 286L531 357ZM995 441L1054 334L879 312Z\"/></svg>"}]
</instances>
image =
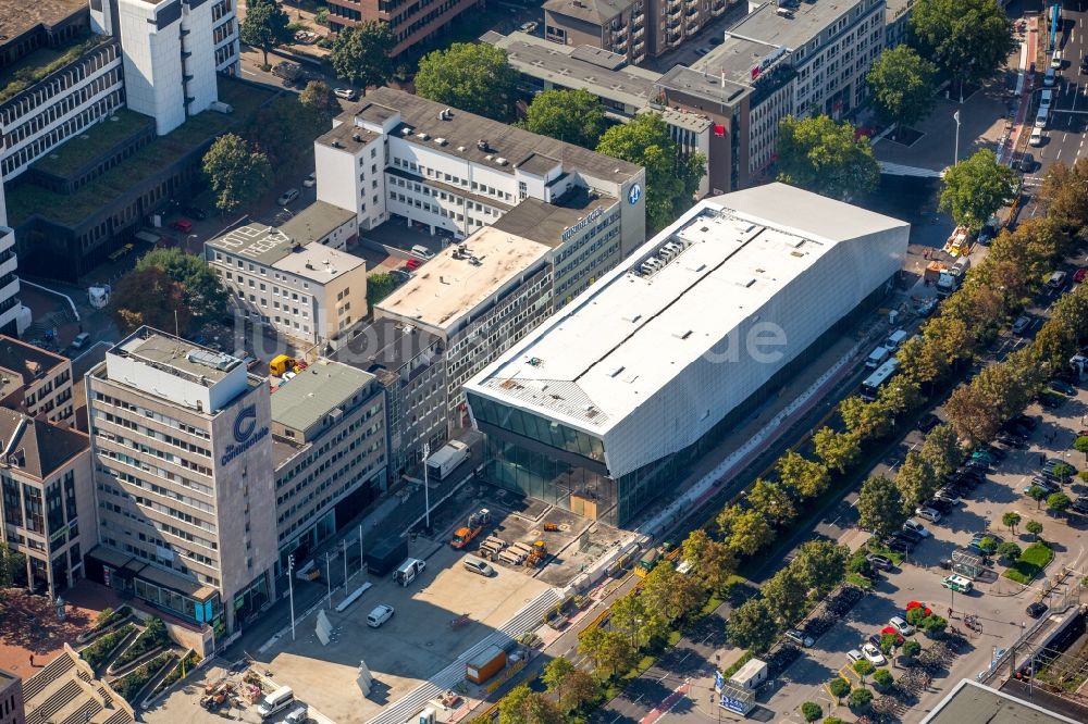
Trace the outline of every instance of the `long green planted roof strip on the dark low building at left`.
<instances>
[{"instance_id":1,"label":"long green planted roof strip on the dark low building at left","mask_svg":"<svg viewBox=\"0 0 1088 724\"><path fill-rule=\"evenodd\" d=\"M238 80L221 79L219 99L233 105L234 113L226 115L215 111L205 111L193 116L182 126L151 141L92 183L79 187L75 194L55 194L34 184L20 184L8 192L10 223L12 226L18 226L30 216L40 214L62 226L78 224L206 141L233 128L242 127L274 92ZM79 138L73 138L61 146L57 153L63 157L67 153L65 150L67 146L84 142Z\"/></svg>"}]
</instances>

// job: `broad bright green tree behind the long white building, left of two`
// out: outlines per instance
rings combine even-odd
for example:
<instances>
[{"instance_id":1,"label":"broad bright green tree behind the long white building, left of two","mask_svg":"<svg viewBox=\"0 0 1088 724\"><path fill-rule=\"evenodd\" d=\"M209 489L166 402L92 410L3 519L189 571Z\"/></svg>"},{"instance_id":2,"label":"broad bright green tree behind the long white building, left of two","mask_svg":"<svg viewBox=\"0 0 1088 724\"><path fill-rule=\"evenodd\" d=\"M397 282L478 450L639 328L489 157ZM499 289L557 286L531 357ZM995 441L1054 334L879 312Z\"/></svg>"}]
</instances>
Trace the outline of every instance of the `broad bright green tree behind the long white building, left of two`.
<instances>
[{"instance_id":1,"label":"broad bright green tree behind the long white building, left of two","mask_svg":"<svg viewBox=\"0 0 1088 724\"><path fill-rule=\"evenodd\" d=\"M518 72L506 51L486 42L455 42L419 62L416 92L455 109L508 120L514 110Z\"/></svg>"}]
</instances>

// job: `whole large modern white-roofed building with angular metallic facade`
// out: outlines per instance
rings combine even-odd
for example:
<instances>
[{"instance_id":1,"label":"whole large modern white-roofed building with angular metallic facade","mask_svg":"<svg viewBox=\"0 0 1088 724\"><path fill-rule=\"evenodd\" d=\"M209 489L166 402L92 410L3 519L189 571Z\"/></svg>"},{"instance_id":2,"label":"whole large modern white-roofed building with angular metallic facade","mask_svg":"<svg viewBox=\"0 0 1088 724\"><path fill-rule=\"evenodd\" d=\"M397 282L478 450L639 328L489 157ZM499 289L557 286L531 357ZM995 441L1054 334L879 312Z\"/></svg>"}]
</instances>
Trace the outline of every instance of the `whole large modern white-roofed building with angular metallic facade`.
<instances>
[{"instance_id":1,"label":"whole large modern white-roofed building with angular metallic facade","mask_svg":"<svg viewBox=\"0 0 1088 724\"><path fill-rule=\"evenodd\" d=\"M701 202L465 385L485 476L626 525L879 302L908 235L784 184Z\"/></svg>"}]
</instances>

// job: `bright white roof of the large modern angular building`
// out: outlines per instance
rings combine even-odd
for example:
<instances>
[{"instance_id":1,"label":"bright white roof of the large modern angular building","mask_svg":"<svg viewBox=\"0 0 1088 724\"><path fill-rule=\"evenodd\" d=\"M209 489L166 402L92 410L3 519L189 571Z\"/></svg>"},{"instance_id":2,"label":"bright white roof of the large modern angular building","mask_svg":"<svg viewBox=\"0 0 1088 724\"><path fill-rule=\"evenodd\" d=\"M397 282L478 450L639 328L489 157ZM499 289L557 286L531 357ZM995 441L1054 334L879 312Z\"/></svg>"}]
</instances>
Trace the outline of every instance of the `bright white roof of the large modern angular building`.
<instances>
[{"instance_id":1,"label":"bright white roof of the large modern angular building","mask_svg":"<svg viewBox=\"0 0 1088 724\"><path fill-rule=\"evenodd\" d=\"M705 200L467 387L603 434L837 244L903 226L777 183ZM644 275L666 244L680 250Z\"/></svg>"}]
</instances>

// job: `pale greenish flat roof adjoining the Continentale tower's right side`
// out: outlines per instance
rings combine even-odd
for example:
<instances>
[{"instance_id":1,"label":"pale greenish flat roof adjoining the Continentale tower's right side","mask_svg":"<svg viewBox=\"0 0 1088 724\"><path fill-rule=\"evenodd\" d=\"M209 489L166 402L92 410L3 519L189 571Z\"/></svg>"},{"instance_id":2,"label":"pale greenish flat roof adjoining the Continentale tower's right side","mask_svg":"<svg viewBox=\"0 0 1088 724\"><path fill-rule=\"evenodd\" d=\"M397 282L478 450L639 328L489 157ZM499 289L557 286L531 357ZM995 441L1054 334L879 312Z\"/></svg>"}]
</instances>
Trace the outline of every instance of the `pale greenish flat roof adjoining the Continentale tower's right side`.
<instances>
[{"instance_id":1,"label":"pale greenish flat roof adjoining the Continentale tower's right side","mask_svg":"<svg viewBox=\"0 0 1088 724\"><path fill-rule=\"evenodd\" d=\"M374 375L332 360L321 359L280 385L272 395L272 421L307 430L336 408L349 404Z\"/></svg>"}]
</instances>

